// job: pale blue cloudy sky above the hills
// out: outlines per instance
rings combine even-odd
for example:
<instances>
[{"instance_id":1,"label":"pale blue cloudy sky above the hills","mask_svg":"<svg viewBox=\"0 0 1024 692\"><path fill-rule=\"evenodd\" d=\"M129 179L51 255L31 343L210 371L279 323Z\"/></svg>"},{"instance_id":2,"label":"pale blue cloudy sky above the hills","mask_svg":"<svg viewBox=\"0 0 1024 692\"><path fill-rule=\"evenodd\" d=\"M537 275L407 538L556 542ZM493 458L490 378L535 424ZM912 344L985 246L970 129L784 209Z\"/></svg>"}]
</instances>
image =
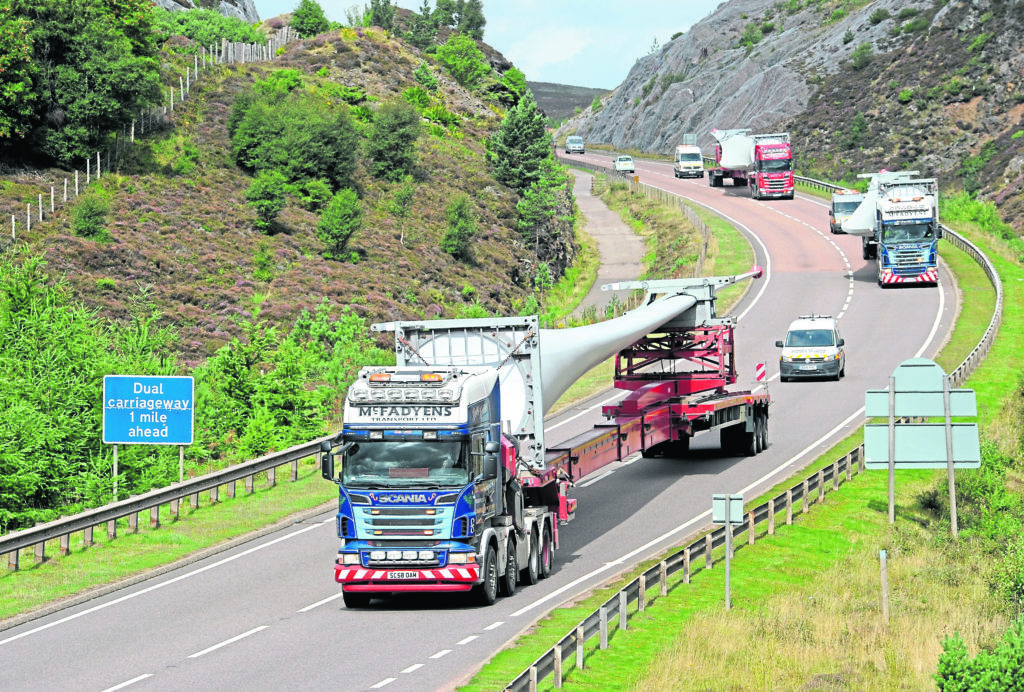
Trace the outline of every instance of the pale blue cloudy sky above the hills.
<instances>
[{"instance_id":1,"label":"pale blue cloudy sky above the hills","mask_svg":"<svg viewBox=\"0 0 1024 692\"><path fill-rule=\"evenodd\" d=\"M362 0L318 0L324 13L345 20ZM611 90L654 41L665 44L724 0L483 0L483 41L512 60L531 82ZM291 12L299 0L255 0L261 19ZM398 0L418 11L422 0ZM431 0L431 7L434 6Z\"/></svg>"}]
</instances>

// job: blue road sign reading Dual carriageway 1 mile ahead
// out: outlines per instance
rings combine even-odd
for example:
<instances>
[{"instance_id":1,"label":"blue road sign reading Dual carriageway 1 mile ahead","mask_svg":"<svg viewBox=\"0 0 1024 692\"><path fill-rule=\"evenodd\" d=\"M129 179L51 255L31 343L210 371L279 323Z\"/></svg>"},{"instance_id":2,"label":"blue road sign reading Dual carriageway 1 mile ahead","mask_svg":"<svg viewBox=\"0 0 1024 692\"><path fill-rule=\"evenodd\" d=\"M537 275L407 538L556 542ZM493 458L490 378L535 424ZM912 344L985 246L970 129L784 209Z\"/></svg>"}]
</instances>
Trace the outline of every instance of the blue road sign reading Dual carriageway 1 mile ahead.
<instances>
[{"instance_id":1,"label":"blue road sign reading Dual carriageway 1 mile ahead","mask_svg":"<svg viewBox=\"0 0 1024 692\"><path fill-rule=\"evenodd\" d=\"M191 444L196 381L190 377L103 378L104 444Z\"/></svg>"}]
</instances>

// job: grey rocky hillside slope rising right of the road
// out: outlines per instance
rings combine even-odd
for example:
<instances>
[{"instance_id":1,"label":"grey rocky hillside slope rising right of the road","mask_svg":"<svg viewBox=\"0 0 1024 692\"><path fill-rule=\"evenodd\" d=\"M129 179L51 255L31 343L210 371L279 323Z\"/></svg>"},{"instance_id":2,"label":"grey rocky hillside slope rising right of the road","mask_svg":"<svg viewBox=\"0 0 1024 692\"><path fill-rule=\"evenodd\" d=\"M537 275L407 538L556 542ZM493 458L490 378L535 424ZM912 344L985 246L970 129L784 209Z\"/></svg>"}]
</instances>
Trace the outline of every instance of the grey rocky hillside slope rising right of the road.
<instances>
[{"instance_id":1,"label":"grey rocky hillside slope rising right of the road","mask_svg":"<svg viewBox=\"0 0 1024 692\"><path fill-rule=\"evenodd\" d=\"M1021 233L1022 30L1011 0L730 0L557 136L667 154L684 132L788 131L806 175L916 169Z\"/></svg>"}]
</instances>

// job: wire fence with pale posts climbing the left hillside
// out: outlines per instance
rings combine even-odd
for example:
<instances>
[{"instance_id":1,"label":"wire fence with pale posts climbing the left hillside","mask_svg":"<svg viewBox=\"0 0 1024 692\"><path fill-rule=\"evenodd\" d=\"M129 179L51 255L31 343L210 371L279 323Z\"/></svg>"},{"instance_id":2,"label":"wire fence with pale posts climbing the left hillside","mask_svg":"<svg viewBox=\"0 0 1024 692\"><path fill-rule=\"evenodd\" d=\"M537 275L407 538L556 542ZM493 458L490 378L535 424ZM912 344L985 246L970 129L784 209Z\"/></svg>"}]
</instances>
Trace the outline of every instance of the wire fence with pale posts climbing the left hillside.
<instances>
[{"instance_id":1,"label":"wire fence with pale posts climbing the left hillside","mask_svg":"<svg viewBox=\"0 0 1024 692\"><path fill-rule=\"evenodd\" d=\"M131 123L122 126L121 131L110 133L109 144L95 156L90 155L82 161L80 167L69 172L68 177L56 180L49 185L43 185L38 197L26 204L25 214L20 211L10 215L10 240L16 241L32 232L33 224L42 223L46 218L55 216L69 202L85 192L85 189L98 181L103 173L112 167L132 146L136 137L146 133L172 127L174 124L174 109L181 107L191 93L193 87L205 77L211 69L217 66L246 64L273 60L279 49L299 36L291 27L283 27L267 38L266 44L237 43L222 39L220 44L201 46L200 52L193 55L193 63L185 66L184 74L179 74L177 85L171 84L161 105L142 109Z\"/></svg>"}]
</instances>

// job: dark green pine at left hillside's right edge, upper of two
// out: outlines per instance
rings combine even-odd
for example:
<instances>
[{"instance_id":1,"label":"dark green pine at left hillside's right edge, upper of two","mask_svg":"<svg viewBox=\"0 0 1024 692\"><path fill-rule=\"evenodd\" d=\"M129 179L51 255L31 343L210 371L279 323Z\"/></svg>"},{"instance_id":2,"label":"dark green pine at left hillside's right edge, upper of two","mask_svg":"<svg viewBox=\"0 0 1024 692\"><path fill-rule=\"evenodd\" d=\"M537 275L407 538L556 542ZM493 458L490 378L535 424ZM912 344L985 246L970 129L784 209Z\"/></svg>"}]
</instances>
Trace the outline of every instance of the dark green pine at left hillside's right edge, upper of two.
<instances>
[{"instance_id":1,"label":"dark green pine at left hillside's right edge, upper of two","mask_svg":"<svg viewBox=\"0 0 1024 692\"><path fill-rule=\"evenodd\" d=\"M544 161L551 157L551 135L530 92L508 112L490 138L490 157L495 177L520 194L541 178Z\"/></svg>"}]
</instances>

